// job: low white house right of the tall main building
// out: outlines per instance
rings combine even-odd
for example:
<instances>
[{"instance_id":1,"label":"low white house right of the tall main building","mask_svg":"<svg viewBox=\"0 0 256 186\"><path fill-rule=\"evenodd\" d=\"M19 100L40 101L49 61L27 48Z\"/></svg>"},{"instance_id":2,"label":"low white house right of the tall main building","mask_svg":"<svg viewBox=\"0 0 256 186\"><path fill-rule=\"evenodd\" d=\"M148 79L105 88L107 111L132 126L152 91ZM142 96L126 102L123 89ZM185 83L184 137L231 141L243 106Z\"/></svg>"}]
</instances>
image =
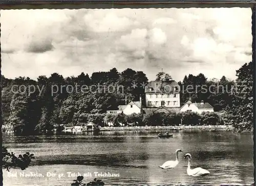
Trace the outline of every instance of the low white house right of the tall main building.
<instances>
[{"instance_id":1,"label":"low white house right of the tall main building","mask_svg":"<svg viewBox=\"0 0 256 186\"><path fill-rule=\"evenodd\" d=\"M212 107L209 103L192 103L191 98L180 108L180 112L198 112L201 114L202 112L214 112L214 107Z\"/></svg>"}]
</instances>

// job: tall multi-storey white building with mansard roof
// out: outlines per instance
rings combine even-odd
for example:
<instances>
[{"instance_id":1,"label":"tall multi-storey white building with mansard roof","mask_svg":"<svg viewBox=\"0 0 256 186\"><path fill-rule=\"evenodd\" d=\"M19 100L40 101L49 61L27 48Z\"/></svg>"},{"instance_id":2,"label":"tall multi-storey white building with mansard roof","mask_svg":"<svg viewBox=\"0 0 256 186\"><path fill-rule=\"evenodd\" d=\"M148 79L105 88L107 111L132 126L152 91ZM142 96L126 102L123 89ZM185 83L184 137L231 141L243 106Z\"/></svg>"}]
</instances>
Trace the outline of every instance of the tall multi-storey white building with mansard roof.
<instances>
[{"instance_id":1,"label":"tall multi-storey white building with mansard roof","mask_svg":"<svg viewBox=\"0 0 256 186\"><path fill-rule=\"evenodd\" d=\"M176 81L150 81L145 87L145 104L151 107L180 107L180 86Z\"/></svg>"}]
</instances>

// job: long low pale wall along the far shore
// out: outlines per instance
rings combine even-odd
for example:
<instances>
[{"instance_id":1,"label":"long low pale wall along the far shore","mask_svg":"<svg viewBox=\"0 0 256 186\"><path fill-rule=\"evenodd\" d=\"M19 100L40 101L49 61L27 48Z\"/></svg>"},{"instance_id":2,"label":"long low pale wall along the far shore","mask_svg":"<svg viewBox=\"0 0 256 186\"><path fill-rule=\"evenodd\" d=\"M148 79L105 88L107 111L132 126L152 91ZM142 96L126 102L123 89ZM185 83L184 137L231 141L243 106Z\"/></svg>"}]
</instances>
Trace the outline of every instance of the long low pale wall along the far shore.
<instances>
[{"instance_id":1,"label":"long low pale wall along the far shore","mask_svg":"<svg viewBox=\"0 0 256 186\"><path fill-rule=\"evenodd\" d=\"M150 126L150 127L101 127L100 131L113 130L191 130L191 129L215 129L215 130L231 130L231 125L203 125L203 126Z\"/></svg>"}]
</instances>

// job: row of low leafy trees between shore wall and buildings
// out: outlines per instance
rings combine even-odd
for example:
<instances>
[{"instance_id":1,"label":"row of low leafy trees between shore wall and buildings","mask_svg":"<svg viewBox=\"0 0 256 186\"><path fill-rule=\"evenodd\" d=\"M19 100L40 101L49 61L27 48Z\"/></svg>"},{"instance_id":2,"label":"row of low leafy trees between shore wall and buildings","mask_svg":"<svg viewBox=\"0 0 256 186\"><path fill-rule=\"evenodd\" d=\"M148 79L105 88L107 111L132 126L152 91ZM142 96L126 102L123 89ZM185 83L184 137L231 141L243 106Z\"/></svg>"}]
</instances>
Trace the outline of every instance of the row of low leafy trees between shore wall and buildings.
<instances>
[{"instance_id":1,"label":"row of low leafy trees between shore wall and buildings","mask_svg":"<svg viewBox=\"0 0 256 186\"><path fill-rule=\"evenodd\" d=\"M179 126L179 125L223 125L222 115L217 112L150 112L125 115L106 114L104 121L112 126ZM104 125L103 125L104 126Z\"/></svg>"}]
</instances>

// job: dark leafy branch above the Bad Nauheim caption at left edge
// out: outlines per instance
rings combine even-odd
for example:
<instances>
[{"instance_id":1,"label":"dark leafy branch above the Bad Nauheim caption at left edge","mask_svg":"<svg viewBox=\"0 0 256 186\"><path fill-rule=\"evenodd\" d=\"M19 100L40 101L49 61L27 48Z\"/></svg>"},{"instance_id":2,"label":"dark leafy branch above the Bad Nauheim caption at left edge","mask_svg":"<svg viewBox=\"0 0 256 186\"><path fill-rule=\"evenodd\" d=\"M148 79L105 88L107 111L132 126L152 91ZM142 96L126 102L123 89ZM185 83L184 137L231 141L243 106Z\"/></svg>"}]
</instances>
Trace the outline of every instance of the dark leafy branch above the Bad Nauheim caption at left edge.
<instances>
[{"instance_id":1,"label":"dark leafy branch above the Bad Nauheim caption at left edge","mask_svg":"<svg viewBox=\"0 0 256 186\"><path fill-rule=\"evenodd\" d=\"M15 156L13 152L8 152L7 148L2 146L2 168L7 169L7 171L9 171L11 167L18 167L25 170L34 158L34 154L30 154L29 152Z\"/></svg>"}]
</instances>

